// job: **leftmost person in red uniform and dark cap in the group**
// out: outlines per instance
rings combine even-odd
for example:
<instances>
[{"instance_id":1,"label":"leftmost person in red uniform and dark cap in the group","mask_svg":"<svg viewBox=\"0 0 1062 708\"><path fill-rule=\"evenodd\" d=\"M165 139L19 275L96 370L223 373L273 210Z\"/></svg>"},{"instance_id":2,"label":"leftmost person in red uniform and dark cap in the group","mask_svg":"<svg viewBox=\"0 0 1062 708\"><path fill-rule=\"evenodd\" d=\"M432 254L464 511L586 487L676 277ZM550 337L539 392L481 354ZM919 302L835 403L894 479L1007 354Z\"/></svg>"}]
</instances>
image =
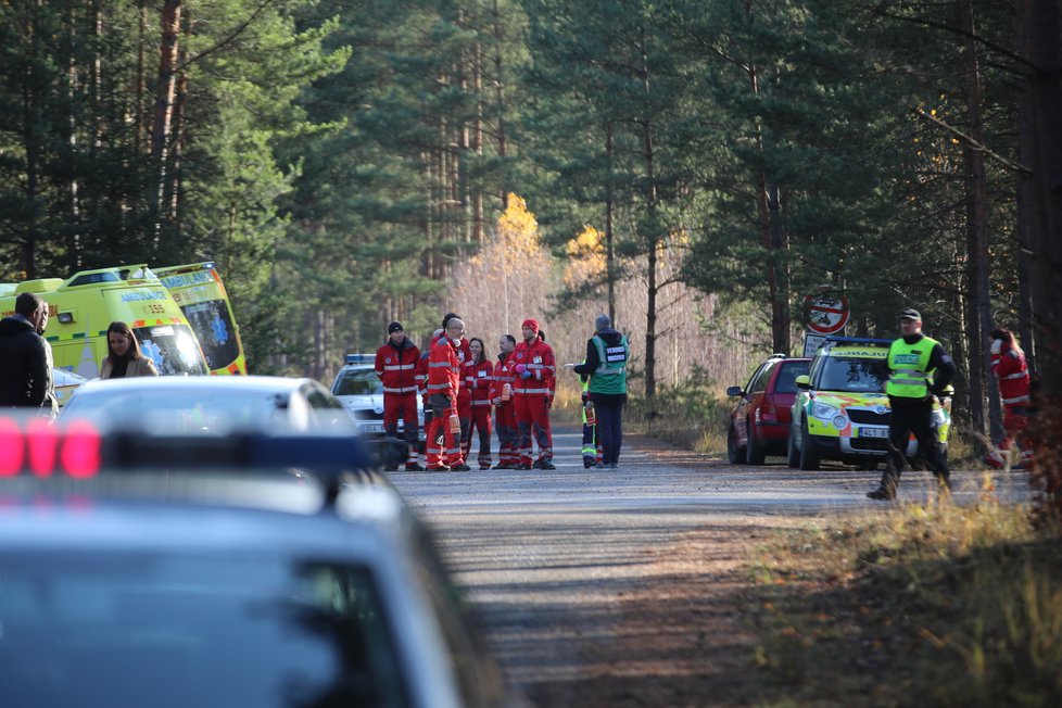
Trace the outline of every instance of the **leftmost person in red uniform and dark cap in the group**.
<instances>
[{"instance_id":1,"label":"leftmost person in red uniform and dark cap in the group","mask_svg":"<svg viewBox=\"0 0 1062 708\"><path fill-rule=\"evenodd\" d=\"M376 352L376 372L383 382L383 434L399 437L402 418L409 456L406 469L422 471L418 463L420 427L417 421L417 369L420 350L406 337L402 323L388 325L388 341ZM397 469L391 466L389 470Z\"/></svg>"}]
</instances>

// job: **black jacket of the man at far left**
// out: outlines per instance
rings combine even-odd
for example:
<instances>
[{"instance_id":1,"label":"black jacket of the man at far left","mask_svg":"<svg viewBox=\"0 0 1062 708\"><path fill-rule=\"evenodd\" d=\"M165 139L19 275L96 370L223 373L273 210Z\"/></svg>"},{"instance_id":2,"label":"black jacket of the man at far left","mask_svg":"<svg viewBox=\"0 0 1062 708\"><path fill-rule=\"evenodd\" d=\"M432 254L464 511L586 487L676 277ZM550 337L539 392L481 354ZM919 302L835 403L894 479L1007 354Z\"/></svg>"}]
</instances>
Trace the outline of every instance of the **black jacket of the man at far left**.
<instances>
[{"instance_id":1,"label":"black jacket of the man at far left","mask_svg":"<svg viewBox=\"0 0 1062 708\"><path fill-rule=\"evenodd\" d=\"M0 320L0 406L51 407L51 346L17 315Z\"/></svg>"}]
</instances>

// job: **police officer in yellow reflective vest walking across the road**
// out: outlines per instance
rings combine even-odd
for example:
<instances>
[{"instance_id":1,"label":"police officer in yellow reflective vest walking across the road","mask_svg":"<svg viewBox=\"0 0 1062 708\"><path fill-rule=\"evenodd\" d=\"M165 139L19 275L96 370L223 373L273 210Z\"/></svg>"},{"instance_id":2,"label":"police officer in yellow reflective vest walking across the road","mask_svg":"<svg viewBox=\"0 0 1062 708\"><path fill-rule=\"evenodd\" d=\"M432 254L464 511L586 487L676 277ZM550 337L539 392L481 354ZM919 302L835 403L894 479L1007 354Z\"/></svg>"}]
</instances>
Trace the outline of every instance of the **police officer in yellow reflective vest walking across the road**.
<instances>
[{"instance_id":1,"label":"police officer in yellow reflective vest walking across the road","mask_svg":"<svg viewBox=\"0 0 1062 708\"><path fill-rule=\"evenodd\" d=\"M937 444L933 427L933 399L944 392L954 376L956 365L940 343L922 333L922 315L916 309L900 313L903 337L888 347L889 379L885 384L892 414L888 421L888 459L882 483L867 496L896 498L896 486L903 471L903 452L911 433L919 441L941 489L951 489L948 458Z\"/></svg>"}]
</instances>

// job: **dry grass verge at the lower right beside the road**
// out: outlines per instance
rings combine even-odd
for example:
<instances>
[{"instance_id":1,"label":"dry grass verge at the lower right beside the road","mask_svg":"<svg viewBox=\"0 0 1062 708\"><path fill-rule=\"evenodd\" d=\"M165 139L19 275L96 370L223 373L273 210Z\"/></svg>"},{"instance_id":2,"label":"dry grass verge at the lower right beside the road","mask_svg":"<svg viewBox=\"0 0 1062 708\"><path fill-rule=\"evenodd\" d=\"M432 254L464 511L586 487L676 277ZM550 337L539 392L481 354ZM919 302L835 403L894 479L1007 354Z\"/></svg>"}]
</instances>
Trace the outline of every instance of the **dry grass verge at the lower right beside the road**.
<instances>
[{"instance_id":1,"label":"dry grass verge at the lower right beside the road","mask_svg":"<svg viewBox=\"0 0 1062 708\"><path fill-rule=\"evenodd\" d=\"M990 488L777 536L750 568L761 705L1062 705L1058 529Z\"/></svg>"}]
</instances>

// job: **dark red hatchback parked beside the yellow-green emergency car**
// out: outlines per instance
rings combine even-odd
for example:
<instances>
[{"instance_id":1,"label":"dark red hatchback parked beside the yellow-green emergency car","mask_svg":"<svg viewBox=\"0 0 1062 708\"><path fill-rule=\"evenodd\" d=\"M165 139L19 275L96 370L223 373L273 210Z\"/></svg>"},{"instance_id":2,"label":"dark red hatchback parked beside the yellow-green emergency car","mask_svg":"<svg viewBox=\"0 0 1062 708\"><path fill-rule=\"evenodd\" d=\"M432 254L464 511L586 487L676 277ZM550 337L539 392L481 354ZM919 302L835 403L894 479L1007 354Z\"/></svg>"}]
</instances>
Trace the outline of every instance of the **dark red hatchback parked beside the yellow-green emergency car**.
<instances>
[{"instance_id":1,"label":"dark red hatchback parked beside the yellow-green emergency car","mask_svg":"<svg viewBox=\"0 0 1062 708\"><path fill-rule=\"evenodd\" d=\"M726 395L741 396L726 431L726 457L732 464L762 465L769 453L785 454L796 378L806 375L810 366L809 358L774 354L756 369L744 389L726 389Z\"/></svg>"}]
</instances>

